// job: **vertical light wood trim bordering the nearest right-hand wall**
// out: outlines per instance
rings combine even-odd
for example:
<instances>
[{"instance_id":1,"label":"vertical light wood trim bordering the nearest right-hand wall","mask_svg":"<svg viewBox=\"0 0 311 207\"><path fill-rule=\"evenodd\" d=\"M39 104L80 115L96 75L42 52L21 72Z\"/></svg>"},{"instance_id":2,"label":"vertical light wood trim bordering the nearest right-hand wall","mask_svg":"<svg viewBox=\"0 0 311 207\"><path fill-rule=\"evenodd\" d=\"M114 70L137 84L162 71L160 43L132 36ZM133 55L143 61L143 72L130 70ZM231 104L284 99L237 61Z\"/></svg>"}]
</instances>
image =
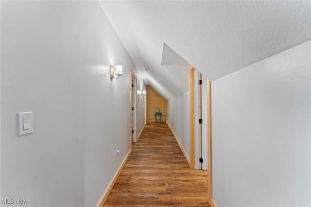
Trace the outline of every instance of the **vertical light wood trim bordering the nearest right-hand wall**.
<instances>
[{"instance_id":1,"label":"vertical light wood trim bordering the nearest right-hand wall","mask_svg":"<svg viewBox=\"0 0 311 207\"><path fill-rule=\"evenodd\" d=\"M207 200L212 206L212 116L211 83L207 80ZM215 205L216 207L216 205Z\"/></svg>"}]
</instances>

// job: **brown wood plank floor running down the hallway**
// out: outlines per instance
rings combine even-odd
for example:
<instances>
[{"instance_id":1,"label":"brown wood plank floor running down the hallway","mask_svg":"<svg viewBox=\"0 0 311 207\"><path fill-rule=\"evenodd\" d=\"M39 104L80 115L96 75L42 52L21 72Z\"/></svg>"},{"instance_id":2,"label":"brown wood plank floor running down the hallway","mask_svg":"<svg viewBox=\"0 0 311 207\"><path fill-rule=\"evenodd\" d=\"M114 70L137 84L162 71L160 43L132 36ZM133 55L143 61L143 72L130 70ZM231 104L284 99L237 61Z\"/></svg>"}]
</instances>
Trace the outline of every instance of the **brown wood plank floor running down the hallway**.
<instances>
[{"instance_id":1,"label":"brown wood plank floor running down the hallway","mask_svg":"<svg viewBox=\"0 0 311 207\"><path fill-rule=\"evenodd\" d=\"M209 207L207 171L190 169L165 122L148 123L104 206Z\"/></svg>"}]
</instances>

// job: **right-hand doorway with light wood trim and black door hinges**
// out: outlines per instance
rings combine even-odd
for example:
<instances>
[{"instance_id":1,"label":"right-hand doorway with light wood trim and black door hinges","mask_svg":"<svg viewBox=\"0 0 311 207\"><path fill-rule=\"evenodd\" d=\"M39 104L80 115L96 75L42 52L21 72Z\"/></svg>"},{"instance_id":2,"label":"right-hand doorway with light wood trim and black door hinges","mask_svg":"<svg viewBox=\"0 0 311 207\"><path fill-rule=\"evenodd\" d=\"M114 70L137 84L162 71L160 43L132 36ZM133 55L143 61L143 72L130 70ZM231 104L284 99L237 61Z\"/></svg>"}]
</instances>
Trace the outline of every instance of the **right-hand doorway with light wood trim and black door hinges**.
<instances>
[{"instance_id":1,"label":"right-hand doorway with light wood trim and black door hinges","mask_svg":"<svg viewBox=\"0 0 311 207\"><path fill-rule=\"evenodd\" d=\"M190 168L207 170L207 198L210 205L211 152L211 82L190 66Z\"/></svg>"}]
</instances>

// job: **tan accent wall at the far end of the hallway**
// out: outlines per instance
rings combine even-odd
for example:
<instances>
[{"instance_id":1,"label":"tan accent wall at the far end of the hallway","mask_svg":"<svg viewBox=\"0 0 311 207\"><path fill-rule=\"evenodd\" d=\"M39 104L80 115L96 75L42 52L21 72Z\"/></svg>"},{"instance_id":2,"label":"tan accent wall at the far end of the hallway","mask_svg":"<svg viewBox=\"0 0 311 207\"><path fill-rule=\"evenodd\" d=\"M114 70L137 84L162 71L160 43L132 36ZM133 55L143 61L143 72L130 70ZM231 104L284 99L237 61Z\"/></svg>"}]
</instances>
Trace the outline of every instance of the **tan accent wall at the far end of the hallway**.
<instances>
[{"instance_id":1,"label":"tan accent wall at the far end of the hallway","mask_svg":"<svg viewBox=\"0 0 311 207\"><path fill-rule=\"evenodd\" d=\"M155 122L156 107L159 107L160 112L162 112L162 122L165 122L167 120L166 106L166 99L158 94L151 86L147 85L147 121Z\"/></svg>"}]
</instances>

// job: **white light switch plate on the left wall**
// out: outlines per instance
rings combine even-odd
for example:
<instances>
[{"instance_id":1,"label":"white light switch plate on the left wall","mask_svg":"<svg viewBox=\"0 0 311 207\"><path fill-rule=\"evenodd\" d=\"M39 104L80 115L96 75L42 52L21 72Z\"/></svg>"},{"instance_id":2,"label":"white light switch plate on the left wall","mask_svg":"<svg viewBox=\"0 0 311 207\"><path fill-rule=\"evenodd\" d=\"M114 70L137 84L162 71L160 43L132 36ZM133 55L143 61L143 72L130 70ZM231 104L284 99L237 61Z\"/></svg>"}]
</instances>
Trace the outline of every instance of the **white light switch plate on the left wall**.
<instances>
[{"instance_id":1,"label":"white light switch plate on the left wall","mask_svg":"<svg viewBox=\"0 0 311 207\"><path fill-rule=\"evenodd\" d=\"M17 113L17 136L33 133L33 112Z\"/></svg>"}]
</instances>

